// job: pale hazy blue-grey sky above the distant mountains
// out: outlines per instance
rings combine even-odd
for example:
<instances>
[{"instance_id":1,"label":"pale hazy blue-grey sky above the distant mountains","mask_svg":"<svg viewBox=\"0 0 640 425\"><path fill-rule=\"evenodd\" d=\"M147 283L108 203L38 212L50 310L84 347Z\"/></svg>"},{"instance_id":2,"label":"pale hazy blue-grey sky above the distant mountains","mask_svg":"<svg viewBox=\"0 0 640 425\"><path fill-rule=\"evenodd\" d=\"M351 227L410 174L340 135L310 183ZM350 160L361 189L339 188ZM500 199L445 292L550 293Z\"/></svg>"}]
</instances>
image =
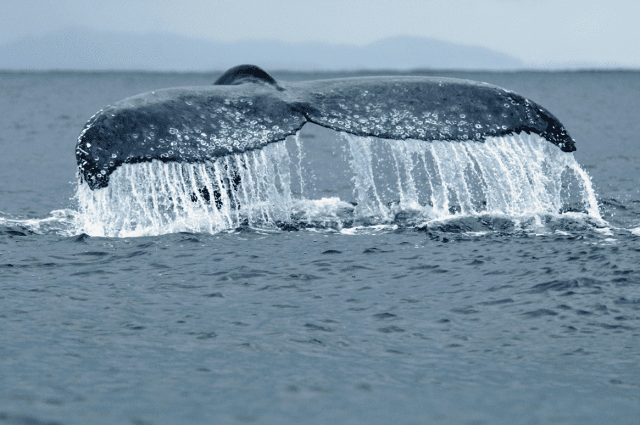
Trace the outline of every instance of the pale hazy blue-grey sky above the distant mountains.
<instances>
[{"instance_id":1,"label":"pale hazy blue-grey sky above the distant mountains","mask_svg":"<svg viewBox=\"0 0 640 425\"><path fill-rule=\"evenodd\" d=\"M0 0L0 44L68 26L210 41L366 44L422 36L481 45L530 65L640 68L631 0ZM392 6L393 4L393 6Z\"/></svg>"}]
</instances>

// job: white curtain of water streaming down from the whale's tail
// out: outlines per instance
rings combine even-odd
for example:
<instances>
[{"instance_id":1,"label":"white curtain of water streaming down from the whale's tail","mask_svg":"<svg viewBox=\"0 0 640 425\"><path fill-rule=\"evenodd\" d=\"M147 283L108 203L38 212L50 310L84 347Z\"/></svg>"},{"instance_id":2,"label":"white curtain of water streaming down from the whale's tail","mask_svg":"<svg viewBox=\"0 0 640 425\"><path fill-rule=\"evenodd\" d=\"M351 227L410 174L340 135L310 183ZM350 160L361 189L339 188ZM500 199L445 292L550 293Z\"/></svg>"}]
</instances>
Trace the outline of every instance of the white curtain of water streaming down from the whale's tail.
<instances>
[{"instance_id":1,"label":"white curtain of water streaming down from the whale's tail","mask_svg":"<svg viewBox=\"0 0 640 425\"><path fill-rule=\"evenodd\" d=\"M474 143L334 133L331 143L331 158L318 157L297 134L208 163L123 164L106 188L81 181L78 231L127 237L240 225L340 229L567 211L599 220L587 173L572 153L536 134Z\"/></svg>"}]
</instances>

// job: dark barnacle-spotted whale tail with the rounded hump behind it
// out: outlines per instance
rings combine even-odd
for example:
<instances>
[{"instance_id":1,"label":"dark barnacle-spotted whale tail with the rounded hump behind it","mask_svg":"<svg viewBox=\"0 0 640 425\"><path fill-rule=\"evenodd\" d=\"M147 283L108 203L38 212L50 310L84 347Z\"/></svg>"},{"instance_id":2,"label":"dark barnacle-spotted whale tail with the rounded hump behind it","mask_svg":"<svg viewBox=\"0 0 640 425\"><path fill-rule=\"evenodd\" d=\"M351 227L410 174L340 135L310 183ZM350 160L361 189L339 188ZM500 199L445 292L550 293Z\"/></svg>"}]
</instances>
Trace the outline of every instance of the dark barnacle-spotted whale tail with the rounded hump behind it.
<instances>
[{"instance_id":1,"label":"dark barnacle-spotted whale tail with the rounded hump behind it","mask_svg":"<svg viewBox=\"0 0 640 425\"><path fill-rule=\"evenodd\" d=\"M526 132L575 151L550 112L484 82L359 77L284 84L255 65L240 65L211 86L156 90L105 107L80 133L76 159L90 188L105 188L123 163L211 161L282 141L306 122L426 141L481 142Z\"/></svg>"}]
</instances>

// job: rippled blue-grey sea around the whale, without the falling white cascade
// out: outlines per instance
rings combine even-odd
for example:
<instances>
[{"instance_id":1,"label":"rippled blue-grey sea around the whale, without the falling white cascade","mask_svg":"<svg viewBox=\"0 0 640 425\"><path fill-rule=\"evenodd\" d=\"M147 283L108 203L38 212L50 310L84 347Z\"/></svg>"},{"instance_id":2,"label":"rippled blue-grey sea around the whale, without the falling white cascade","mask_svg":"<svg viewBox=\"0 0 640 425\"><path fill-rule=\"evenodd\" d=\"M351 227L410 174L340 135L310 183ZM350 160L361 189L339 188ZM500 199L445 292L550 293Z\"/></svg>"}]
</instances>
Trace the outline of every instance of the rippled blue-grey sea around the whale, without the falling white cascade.
<instances>
[{"instance_id":1,"label":"rippled blue-grey sea around the whale, without the falling white cascade","mask_svg":"<svg viewBox=\"0 0 640 425\"><path fill-rule=\"evenodd\" d=\"M639 423L640 74L444 76L553 112L604 222L73 235L85 121L216 75L0 74L0 423Z\"/></svg>"}]
</instances>

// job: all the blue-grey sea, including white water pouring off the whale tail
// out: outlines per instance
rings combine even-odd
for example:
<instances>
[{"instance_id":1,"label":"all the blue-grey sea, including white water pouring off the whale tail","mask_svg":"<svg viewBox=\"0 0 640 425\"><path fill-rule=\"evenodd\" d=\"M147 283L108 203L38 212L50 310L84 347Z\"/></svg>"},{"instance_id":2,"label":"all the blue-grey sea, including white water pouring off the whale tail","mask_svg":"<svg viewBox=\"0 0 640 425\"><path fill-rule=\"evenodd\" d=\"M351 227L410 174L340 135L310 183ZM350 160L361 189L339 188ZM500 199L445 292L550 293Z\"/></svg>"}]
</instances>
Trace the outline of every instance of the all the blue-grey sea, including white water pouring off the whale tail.
<instances>
[{"instance_id":1,"label":"all the blue-grey sea, including white water pouring off the whale tail","mask_svg":"<svg viewBox=\"0 0 640 425\"><path fill-rule=\"evenodd\" d=\"M307 125L90 191L92 114L218 74L1 72L0 424L639 423L640 73L423 73L577 151Z\"/></svg>"}]
</instances>

